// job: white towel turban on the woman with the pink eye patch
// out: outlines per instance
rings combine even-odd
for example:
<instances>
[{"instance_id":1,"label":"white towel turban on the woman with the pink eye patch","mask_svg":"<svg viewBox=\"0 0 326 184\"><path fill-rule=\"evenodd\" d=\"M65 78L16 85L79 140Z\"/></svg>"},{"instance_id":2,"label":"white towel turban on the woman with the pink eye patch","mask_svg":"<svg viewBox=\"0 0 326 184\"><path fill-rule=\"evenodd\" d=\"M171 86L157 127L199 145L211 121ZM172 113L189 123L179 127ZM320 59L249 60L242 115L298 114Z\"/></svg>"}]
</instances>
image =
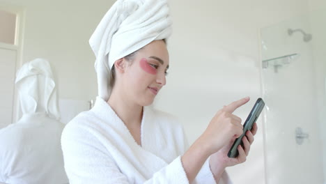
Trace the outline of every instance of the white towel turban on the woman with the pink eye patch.
<instances>
[{"instance_id":1,"label":"white towel turban on the woman with the pink eye patch","mask_svg":"<svg viewBox=\"0 0 326 184\"><path fill-rule=\"evenodd\" d=\"M118 0L104 15L89 43L96 56L98 95L109 100L110 70L114 62L171 35L166 0Z\"/></svg>"}]
</instances>

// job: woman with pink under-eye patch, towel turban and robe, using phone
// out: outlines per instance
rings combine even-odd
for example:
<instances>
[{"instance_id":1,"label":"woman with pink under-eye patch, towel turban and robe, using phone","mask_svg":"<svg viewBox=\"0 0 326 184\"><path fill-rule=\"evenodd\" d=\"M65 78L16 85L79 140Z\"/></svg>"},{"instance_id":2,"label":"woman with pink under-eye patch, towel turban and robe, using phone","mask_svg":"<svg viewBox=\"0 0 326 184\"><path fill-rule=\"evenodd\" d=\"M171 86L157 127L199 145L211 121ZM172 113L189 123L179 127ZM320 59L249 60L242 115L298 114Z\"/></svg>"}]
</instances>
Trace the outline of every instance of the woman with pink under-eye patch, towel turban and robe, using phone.
<instances>
[{"instance_id":1,"label":"woman with pink under-eye patch, towel turban and robe, using phone","mask_svg":"<svg viewBox=\"0 0 326 184\"><path fill-rule=\"evenodd\" d=\"M75 117L61 138L70 183L230 183L226 167L244 162L256 124L228 158L242 134L225 106L190 148L176 118L148 107L166 84L171 20L166 1L118 0L91 37L99 96Z\"/></svg>"}]
</instances>

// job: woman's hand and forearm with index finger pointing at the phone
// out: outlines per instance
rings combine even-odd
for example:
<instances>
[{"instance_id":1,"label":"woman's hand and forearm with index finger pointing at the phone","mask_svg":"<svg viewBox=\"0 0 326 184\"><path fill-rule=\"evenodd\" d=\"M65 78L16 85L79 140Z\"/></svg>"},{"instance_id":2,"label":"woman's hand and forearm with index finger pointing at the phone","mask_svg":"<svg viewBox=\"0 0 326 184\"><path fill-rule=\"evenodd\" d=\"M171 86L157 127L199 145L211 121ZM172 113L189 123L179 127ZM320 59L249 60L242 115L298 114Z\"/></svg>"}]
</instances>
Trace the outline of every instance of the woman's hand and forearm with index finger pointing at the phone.
<instances>
[{"instance_id":1,"label":"woman's hand and forearm with index finger pointing at the phone","mask_svg":"<svg viewBox=\"0 0 326 184\"><path fill-rule=\"evenodd\" d=\"M183 163L183 168L185 169L189 183L192 183L203 166L203 163L210 155L221 149L225 149L225 146L229 146L231 140L234 141L236 137L242 135L243 127L241 125L241 118L232 113L235 109L238 109L238 107L244 105L248 101L249 98L243 98L232 102L230 105L224 106L223 109L217 112L212 118L212 121L210 121L203 135L201 135L181 157L181 162ZM214 161L212 165L216 165L215 163L218 163L218 160L222 159L221 156L215 156L214 158L216 158L217 161ZM231 162L223 163L231 164ZM215 172L213 172L213 174L215 174ZM219 177L215 177L215 180L219 180Z\"/></svg>"}]
</instances>

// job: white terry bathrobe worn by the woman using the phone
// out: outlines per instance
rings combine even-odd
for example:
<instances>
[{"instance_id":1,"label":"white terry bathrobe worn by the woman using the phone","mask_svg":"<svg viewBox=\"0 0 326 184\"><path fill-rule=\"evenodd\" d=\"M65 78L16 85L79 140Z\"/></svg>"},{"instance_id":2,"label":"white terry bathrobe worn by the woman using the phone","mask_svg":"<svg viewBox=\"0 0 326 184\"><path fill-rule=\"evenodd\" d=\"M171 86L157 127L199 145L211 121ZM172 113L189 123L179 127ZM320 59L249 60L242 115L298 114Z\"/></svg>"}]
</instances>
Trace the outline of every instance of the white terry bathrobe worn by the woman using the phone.
<instances>
[{"instance_id":1,"label":"white terry bathrobe worn by the woman using the phone","mask_svg":"<svg viewBox=\"0 0 326 184\"><path fill-rule=\"evenodd\" d=\"M151 107L143 108L141 146L102 98L66 125L61 145L71 184L189 183L180 159L188 147L183 128ZM194 183L215 183L208 161ZM226 172L220 183L231 183Z\"/></svg>"}]
</instances>

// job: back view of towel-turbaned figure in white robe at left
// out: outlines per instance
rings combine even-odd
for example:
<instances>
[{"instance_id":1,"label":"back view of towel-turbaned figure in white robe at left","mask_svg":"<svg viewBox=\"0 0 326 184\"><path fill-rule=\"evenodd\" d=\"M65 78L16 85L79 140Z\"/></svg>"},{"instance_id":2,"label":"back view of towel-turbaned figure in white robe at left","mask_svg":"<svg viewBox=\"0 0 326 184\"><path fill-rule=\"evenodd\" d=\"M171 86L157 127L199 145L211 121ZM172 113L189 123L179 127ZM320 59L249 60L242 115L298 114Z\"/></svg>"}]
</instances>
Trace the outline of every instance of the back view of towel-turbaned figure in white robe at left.
<instances>
[{"instance_id":1,"label":"back view of towel-turbaned figure in white robe at left","mask_svg":"<svg viewBox=\"0 0 326 184\"><path fill-rule=\"evenodd\" d=\"M0 130L0 182L68 183L63 168L56 83L49 62L35 59L17 71L22 118Z\"/></svg>"}]
</instances>

